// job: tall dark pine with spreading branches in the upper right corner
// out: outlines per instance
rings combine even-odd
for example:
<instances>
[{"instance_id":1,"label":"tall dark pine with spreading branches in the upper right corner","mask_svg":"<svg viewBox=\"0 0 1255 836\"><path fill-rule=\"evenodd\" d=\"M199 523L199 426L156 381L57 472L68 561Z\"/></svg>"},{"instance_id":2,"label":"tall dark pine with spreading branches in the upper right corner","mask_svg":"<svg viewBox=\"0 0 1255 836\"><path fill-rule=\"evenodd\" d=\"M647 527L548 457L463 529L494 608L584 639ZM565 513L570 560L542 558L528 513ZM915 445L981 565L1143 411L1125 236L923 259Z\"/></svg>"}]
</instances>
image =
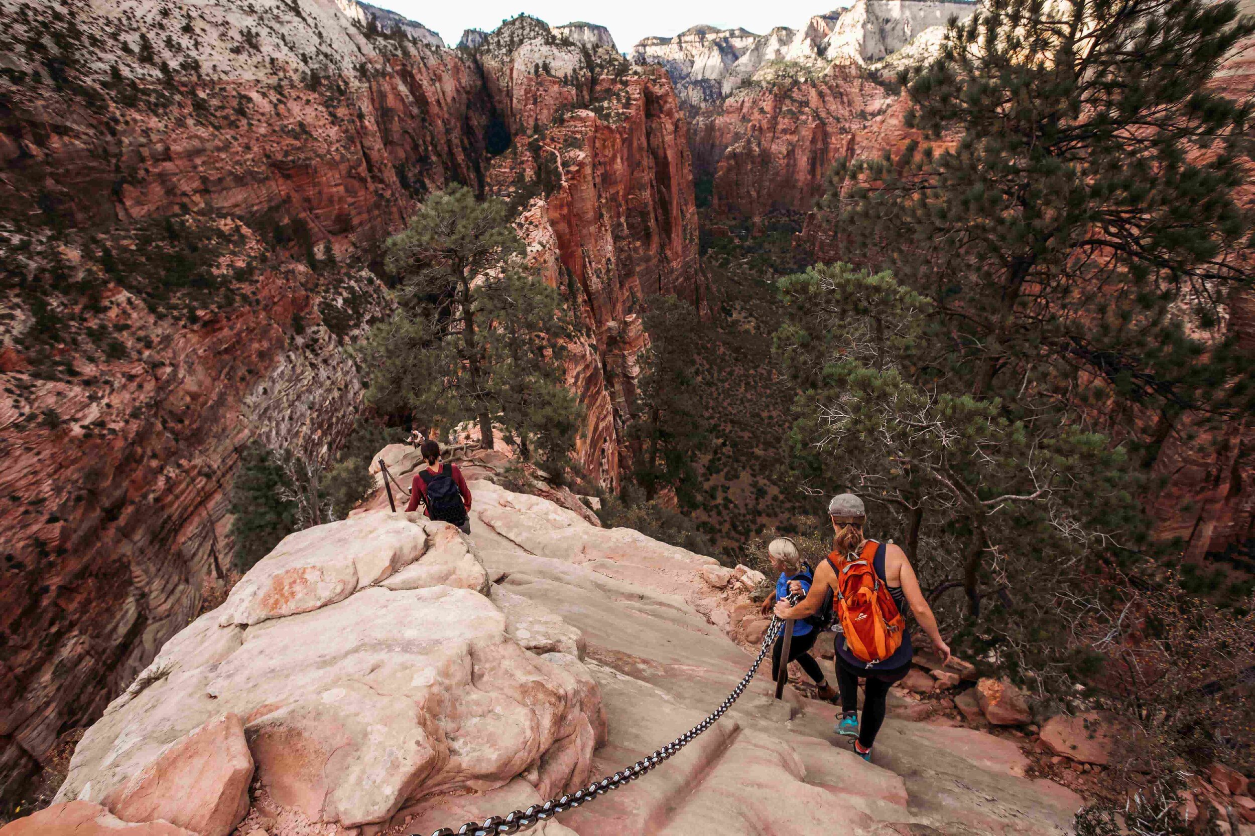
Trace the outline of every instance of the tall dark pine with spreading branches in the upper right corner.
<instances>
[{"instance_id":1,"label":"tall dark pine with spreading branches in the upper right corner","mask_svg":"<svg viewBox=\"0 0 1255 836\"><path fill-rule=\"evenodd\" d=\"M1242 409L1215 331L1250 286L1251 107L1209 85L1252 31L1234 3L991 1L900 78L930 144L838 167L842 257L935 302L936 375L976 397Z\"/></svg>"}]
</instances>

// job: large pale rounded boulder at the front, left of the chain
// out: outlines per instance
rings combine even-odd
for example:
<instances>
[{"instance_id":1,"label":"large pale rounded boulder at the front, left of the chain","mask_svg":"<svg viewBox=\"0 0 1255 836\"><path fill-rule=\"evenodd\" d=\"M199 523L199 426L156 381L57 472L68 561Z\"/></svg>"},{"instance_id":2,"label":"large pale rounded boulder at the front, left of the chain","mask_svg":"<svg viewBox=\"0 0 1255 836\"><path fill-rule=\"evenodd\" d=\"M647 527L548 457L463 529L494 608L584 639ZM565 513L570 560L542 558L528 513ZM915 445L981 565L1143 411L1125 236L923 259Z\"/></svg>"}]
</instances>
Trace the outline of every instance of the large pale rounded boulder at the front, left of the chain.
<instances>
[{"instance_id":1,"label":"large pale rounded boulder at the front, left of the chain","mask_svg":"<svg viewBox=\"0 0 1255 836\"><path fill-rule=\"evenodd\" d=\"M60 798L102 800L223 711L243 719L276 803L343 827L501 786L546 757L551 783L586 780L605 728L596 688L511 640L506 620L486 597L439 585L373 587L247 628L201 624L177 666L167 657L88 731ZM226 658L215 630L242 632ZM197 667L201 647L218 651Z\"/></svg>"}]
</instances>

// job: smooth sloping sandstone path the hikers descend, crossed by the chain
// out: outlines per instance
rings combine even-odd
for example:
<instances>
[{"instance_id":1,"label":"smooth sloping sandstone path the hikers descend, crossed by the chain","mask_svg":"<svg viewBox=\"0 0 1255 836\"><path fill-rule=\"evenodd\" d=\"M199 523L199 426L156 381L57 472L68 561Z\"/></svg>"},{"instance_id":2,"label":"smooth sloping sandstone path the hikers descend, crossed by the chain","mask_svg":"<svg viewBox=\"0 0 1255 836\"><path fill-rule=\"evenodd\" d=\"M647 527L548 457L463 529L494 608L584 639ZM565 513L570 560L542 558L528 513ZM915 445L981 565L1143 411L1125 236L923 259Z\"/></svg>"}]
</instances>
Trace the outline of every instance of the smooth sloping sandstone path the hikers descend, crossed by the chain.
<instances>
[{"instance_id":1,"label":"smooth sloping sandstone path the hikers descend, crossed by the chain","mask_svg":"<svg viewBox=\"0 0 1255 836\"><path fill-rule=\"evenodd\" d=\"M610 729L595 776L683 733L735 686L752 659L699 612L710 589L697 582L693 555L635 531L530 514L545 500L488 483L472 490L472 540L489 578L582 634ZM685 574L694 583L678 584ZM561 823L581 836L1071 831L1081 798L1025 778L1028 760L1010 741L890 718L868 765L832 733L835 706L786 694L773 698L762 668L723 719L665 767Z\"/></svg>"}]
</instances>

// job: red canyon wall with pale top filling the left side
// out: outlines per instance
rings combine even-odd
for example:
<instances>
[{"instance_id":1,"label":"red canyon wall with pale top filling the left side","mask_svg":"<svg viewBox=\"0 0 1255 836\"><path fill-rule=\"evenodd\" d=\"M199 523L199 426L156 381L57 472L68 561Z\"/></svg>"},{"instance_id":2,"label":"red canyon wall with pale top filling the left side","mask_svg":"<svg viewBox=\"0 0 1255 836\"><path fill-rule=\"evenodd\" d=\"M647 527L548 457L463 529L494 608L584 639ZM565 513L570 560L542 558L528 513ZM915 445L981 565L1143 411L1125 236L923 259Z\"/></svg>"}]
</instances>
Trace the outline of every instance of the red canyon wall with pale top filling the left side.
<instances>
[{"instance_id":1,"label":"red canyon wall with pale top filling the left side","mask_svg":"<svg viewBox=\"0 0 1255 836\"><path fill-rule=\"evenodd\" d=\"M481 179L491 107L452 53L368 39L334 0L198 4L187 31L149 6L0 3L11 34L74 59L68 85L35 84L46 68L19 49L0 79L0 379L20 392L0 405L0 489L20 498L0 526L0 795L196 615L230 560L241 447L316 452L351 427L361 389L340 350L384 295L344 258L395 229L415 192ZM102 246L129 258L132 232L169 217L163 241L218 227L222 254L193 278L230 297L161 311L109 272ZM98 287L44 301L78 341L48 348L73 375L44 368L34 302L11 290L50 274ZM73 328L109 333L108 351Z\"/></svg>"}]
</instances>

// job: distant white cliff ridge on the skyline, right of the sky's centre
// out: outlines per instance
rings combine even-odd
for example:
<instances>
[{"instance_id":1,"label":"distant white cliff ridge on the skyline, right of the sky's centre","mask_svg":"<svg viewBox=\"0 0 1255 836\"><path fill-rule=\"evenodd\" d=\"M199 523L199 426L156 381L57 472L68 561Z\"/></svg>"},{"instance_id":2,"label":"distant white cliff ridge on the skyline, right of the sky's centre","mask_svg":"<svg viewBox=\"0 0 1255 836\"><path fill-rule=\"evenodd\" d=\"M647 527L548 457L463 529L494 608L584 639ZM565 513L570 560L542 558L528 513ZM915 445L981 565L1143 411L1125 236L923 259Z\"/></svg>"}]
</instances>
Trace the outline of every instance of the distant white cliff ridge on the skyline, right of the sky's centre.
<instances>
[{"instance_id":1,"label":"distant white cliff ridge on the skyline, right of the sky's centre","mask_svg":"<svg viewBox=\"0 0 1255 836\"><path fill-rule=\"evenodd\" d=\"M930 29L935 31L929 43L939 43L951 16L963 20L975 9L975 3L856 0L848 9L811 18L797 30L777 26L759 36L744 29L693 26L675 38L645 38L633 46L631 59L663 65L681 100L700 107L779 63L873 64Z\"/></svg>"}]
</instances>

